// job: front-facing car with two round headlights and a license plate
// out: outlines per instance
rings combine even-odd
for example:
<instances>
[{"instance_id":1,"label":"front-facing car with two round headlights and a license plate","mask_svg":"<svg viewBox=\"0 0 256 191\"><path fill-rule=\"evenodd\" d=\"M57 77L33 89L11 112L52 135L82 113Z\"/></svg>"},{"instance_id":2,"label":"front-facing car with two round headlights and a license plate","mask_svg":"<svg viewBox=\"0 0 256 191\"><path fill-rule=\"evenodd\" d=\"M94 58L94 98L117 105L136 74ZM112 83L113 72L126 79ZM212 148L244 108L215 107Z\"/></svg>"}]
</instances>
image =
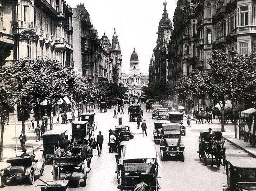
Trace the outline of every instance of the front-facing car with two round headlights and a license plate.
<instances>
[{"instance_id":1,"label":"front-facing car with two round headlights and a license plate","mask_svg":"<svg viewBox=\"0 0 256 191\"><path fill-rule=\"evenodd\" d=\"M166 161L167 157L177 157L184 161L185 146L180 133L180 124L163 124L162 134L160 141L161 160Z\"/></svg>"}]
</instances>

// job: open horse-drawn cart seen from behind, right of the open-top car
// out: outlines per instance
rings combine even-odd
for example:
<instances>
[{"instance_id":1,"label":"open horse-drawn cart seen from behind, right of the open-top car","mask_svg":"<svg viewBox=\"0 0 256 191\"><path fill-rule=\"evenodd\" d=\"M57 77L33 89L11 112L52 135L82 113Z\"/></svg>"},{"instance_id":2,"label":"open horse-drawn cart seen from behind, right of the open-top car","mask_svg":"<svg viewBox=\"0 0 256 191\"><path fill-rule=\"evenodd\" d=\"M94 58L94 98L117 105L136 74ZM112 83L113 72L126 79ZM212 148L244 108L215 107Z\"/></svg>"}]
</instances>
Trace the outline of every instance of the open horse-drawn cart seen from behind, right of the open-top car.
<instances>
[{"instance_id":1,"label":"open horse-drawn cart seen from behind, right of the open-top car","mask_svg":"<svg viewBox=\"0 0 256 191\"><path fill-rule=\"evenodd\" d=\"M87 145L74 145L69 150L58 148L54 152L53 158L53 180L60 180L61 174L65 174L65 177L73 173L83 173L83 182L80 182L80 186L86 186L87 173L89 169L87 168L87 155L86 155ZM77 184L79 181L77 181ZM73 185L75 186L75 185Z\"/></svg>"}]
</instances>

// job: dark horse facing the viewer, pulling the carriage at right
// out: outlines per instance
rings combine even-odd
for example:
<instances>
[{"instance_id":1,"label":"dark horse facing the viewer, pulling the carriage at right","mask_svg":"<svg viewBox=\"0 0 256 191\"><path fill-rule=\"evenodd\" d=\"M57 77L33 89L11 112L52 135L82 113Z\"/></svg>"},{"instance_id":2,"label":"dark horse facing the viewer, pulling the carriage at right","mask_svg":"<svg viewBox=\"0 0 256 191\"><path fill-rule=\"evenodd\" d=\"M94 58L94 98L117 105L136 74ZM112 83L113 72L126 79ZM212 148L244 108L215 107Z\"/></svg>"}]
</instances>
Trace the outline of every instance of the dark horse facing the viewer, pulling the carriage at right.
<instances>
[{"instance_id":1,"label":"dark horse facing the viewer, pulling the carriage at right","mask_svg":"<svg viewBox=\"0 0 256 191\"><path fill-rule=\"evenodd\" d=\"M212 155L212 166L213 166L213 156L215 156L216 162L217 162L217 169L220 170L221 159L223 159L223 164L225 163L226 153L225 149L223 147L223 144L221 141L216 141L214 143L211 149L211 155Z\"/></svg>"}]
</instances>

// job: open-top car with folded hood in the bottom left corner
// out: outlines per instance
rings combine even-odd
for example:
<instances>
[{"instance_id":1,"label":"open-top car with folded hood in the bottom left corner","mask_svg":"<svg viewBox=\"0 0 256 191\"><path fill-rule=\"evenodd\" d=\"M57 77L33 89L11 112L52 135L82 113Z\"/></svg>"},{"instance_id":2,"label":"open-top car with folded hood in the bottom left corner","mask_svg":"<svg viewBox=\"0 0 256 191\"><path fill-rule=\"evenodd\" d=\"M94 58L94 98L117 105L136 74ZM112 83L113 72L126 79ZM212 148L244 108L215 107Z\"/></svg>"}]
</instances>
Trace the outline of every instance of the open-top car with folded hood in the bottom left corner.
<instances>
[{"instance_id":1,"label":"open-top car with folded hood in the bottom left corner","mask_svg":"<svg viewBox=\"0 0 256 191\"><path fill-rule=\"evenodd\" d=\"M36 159L33 147L29 146L25 148L32 149L32 153L26 153L27 156L24 156L20 153L22 148L15 147L15 158L9 158L6 160L6 162L11 165L0 170L2 187L5 187L7 185L7 181L11 179L24 179L28 184L32 185L35 181L35 175L44 175L44 160L42 159L38 161L38 159ZM21 154L21 156L18 156L17 152L18 155Z\"/></svg>"}]
</instances>

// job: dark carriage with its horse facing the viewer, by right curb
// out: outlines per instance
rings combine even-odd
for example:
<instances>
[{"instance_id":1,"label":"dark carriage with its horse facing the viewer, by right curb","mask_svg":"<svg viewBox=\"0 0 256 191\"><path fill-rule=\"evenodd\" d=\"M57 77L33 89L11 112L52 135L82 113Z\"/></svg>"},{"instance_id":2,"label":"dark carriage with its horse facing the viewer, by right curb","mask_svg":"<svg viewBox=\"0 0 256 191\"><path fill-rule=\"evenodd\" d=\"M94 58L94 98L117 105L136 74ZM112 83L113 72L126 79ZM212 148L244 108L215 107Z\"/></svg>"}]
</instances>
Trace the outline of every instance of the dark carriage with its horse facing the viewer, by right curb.
<instances>
[{"instance_id":1,"label":"dark carriage with its horse facing the viewer, by right curb","mask_svg":"<svg viewBox=\"0 0 256 191\"><path fill-rule=\"evenodd\" d=\"M212 155L212 165L213 159L216 159L217 168L220 168L221 159L226 158L226 148L224 147L225 140L222 138L222 133L220 131L214 131L215 138L211 140L208 135L209 132L200 132L198 154L200 161L203 159L204 164L207 165L207 159Z\"/></svg>"}]
</instances>

